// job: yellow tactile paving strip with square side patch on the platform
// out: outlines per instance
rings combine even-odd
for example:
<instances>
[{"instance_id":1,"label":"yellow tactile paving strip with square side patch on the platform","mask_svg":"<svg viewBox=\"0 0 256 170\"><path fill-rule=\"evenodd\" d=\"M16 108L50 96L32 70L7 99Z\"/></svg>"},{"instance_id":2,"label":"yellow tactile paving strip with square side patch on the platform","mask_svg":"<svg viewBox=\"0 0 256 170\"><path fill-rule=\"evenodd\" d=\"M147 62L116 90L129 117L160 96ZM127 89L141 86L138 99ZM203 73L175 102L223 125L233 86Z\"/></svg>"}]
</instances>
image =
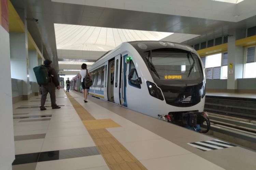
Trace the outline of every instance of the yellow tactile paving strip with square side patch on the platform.
<instances>
[{"instance_id":1,"label":"yellow tactile paving strip with square side patch on the platform","mask_svg":"<svg viewBox=\"0 0 256 170\"><path fill-rule=\"evenodd\" d=\"M111 119L96 120L70 94L66 91L65 93L111 170L146 170L140 161L105 129L121 127L119 124Z\"/></svg>"}]
</instances>

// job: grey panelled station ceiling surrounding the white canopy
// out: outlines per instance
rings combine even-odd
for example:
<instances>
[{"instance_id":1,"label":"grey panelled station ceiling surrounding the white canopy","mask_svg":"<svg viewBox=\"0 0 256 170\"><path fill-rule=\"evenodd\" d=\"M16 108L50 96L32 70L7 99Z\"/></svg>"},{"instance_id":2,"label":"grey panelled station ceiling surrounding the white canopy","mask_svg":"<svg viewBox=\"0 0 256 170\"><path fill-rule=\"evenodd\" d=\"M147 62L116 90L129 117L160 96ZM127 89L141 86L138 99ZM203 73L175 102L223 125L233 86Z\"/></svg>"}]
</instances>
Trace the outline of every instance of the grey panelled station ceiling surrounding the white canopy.
<instances>
[{"instance_id":1,"label":"grey panelled station ceiling surrounding the white canopy","mask_svg":"<svg viewBox=\"0 0 256 170\"><path fill-rule=\"evenodd\" d=\"M56 2L53 2L56 1ZM26 9L27 18L36 18L38 23L33 21L28 21L28 29L32 35L35 43L41 47L43 46L43 55L47 54L46 58L53 60L54 63L58 63L58 58L65 58L59 56L57 52L56 45L56 35L54 29L54 23L57 24L72 24L77 26L87 26L87 27L102 27L102 28L113 28L113 29L129 29L129 30L143 30L143 31L157 31L157 32L167 32L175 33L177 35L184 37L183 41L186 41L188 44L202 42L204 40L215 38L228 34L230 29L244 29L248 27L255 26L256 23L256 9L255 11L251 10L252 4L256 4L255 0L244 0L242 2L236 1L238 4L225 3L225 2L215 2L211 0L180 0L180 1L165 1L166 3L170 2L174 5L166 4L166 12L161 12L163 7L160 2L164 0L159 0L159 4L154 3L155 6L158 6L158 11L148 12L150 10L144 10L143 7L148 4L153 4L153 1L118 1L115 4L111 3L117 2L112 0L111 2L106 0L97 0L97 1L87 1L87 0L11 0L16 11L22 14L22 11ZM65 3L63 3L65 1ZM104 2L104 5L99 5L100 2ZM184 2L183 2L184 1ZM196 4L194 4L195 2ZM221 0L223 1L223 0ZM108 4L109 2L109 4ZM124 9L118 6L118 4L124 2ZM144 2L145 4L143 4ZM148 3L146 3L148 2ZM187 3L186 3L187 2ZM192 3L193 2L193 3ZM231 1L230 1L231 2ZM77 3L77 4L73 4ZM98 3L98 4L97 4ZM126 4L129 4L126 5ZM137 10L136 6L131 7L131 3L138 3ZM183 3L183 4L182 4ZM236 9L234 5L240 5L247 3L247 11L245 10L246 15L242 12L233 13L232 10ZM209 5L210 4L210 5ZM251 4L251 5L250 5ZM126 6L125 6L126 5ZM169 6L179 6L175 9L174 13L172 10L169 10ZM202 9L205 11L202 15L198 13L192 13L193 10L187 6L192 6L194 8L196 5L200 6L198 12L201 12ZM193 6L194 5L194 6ZM214 11L213 7L218 7L217 11ZM127 7L128 6L128 7ZM142 6L142 7L140 7ZM154 6L153 6L154 7ZM182 7L182 8L181 8ZM150 7L148 7L150 8ZM241 8L241 9L240 9ZM243 6L244 8L244 6ZM243 10L242 5L239 7L239 11ZM255 6L254 6L255 8ZM128 10L130 9L130 10ZM144 8L145 9L145 8ZM246 9L246 8L245 8ZM188 14L187 11L189 11ZM201 11L200 11L201 10ZM212 15L209 14L211 11ZM219 12L218 10L221 10ZM251 10L251 11L250 11ZM225 14L226 11L226 14ZM214 13L214 14L213 14ZM222 16L228 17L219 17L216 13L222 14ZM252 17L250 17L252 16ZM248 17L243 19L242 17ZM212 18L212 19L209 19ZM215 18L215 19L214 19ZM219 18L219 19L216 19ZM238 19L239 18L239 19ZM239 21L241 20L241 21ZM81 27L82 28L82 27ZM175 36L175 34L170 35L169 37ZM184 35L183 35L184 34ZM196 36L195 36L196 35ZM199 35L199 36L198 36ZM189 40L190 39L190 40ZM171 39L170 39L171 40ZM58 50L59 51L59 50ZM61 53L64 53L63 51ZM78 59L80 52L76 52ZM91 52L93 56L93 52ZM80 59L86 59L81 56ZM93 58L93 57L92 57ZM67 59L67 57L66 57ZM58 64L55 64L54 67L58 69Z\"/></svg>"}]
</instances>

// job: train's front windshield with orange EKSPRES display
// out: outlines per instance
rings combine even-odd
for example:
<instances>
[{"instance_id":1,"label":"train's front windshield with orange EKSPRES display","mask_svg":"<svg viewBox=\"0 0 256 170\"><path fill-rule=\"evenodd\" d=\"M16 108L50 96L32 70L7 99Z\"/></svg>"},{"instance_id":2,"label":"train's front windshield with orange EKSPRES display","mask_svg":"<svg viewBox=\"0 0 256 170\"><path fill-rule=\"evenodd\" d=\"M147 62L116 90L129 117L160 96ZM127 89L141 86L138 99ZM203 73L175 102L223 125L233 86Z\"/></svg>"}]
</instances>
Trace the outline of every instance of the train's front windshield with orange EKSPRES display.
<instances>
[{"instance_id":1,"label":"train's front windshield with orange EKSPRES display","mask_svg":"<svg viewBox=\"0 0 256 170\"><path fill-rule=\"evenodd\" d=\"M156 49L143 52L143 60L154 80L171 83L199 83L203 73L199 57L188 51Z\"/></svg>"}]
</instances>

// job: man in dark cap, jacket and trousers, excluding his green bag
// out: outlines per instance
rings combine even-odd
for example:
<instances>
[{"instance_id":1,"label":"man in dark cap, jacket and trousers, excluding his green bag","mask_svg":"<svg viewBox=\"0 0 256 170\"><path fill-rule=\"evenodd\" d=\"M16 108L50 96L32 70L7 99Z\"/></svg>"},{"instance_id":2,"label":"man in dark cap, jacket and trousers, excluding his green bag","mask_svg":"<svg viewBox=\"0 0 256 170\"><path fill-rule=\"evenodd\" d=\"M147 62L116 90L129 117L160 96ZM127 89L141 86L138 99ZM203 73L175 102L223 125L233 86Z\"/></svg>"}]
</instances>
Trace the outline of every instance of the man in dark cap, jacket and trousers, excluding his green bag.
<instances>
[{"instance_id":1,"label":"man in dark cap, jacket and trousers, excluding his green bag","mask_svg":"<svg viewBox=\"0 0 256 170\"><path fill-rule=\"evenodd\" d=\"M44 61L44 66L48 69L48 75L51 78L51 81L49 81L47 84L41 86L41 91L42 91L41 106L40 106L41 111L46 110L46 108L44 107L44 104L45 104L45 100L46 100L48 92L51 97L52 108L53 109L60 108L60 106L58 106L56 104L56 98L55 98L55 87L57 87L57 89L59 90L60 85L59 85L57 73L54 70L54 68L51 67L51 65L52 65L51 63L52 63L52 61L50 61L50 60Z\"/></svg>"}]
</instances>

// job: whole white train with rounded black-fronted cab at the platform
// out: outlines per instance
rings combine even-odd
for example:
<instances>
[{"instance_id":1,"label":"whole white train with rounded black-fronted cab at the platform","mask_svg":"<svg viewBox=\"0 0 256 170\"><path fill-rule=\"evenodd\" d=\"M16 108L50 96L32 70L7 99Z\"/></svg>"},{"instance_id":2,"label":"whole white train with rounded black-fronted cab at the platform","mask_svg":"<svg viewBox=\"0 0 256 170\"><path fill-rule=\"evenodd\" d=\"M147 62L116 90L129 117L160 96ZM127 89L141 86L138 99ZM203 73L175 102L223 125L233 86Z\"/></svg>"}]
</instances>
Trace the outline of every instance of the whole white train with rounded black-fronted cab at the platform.
<instances>
[{"instance_id":1,"label":"whole white train with rounded black-fronted cab at the platform","mask_svg":"<svg viewBox=\"0 0 256 170\"><path fill-rule=\"evenodd\" d=\"M125 42L102 55L88 71L93 80L89 96L198 132L210 129L209 116L203 112L203 63L188 45ZM77 75L71 88L81 91L79 82ZM207 124L204 131L203 122Z\"/></svg>"}]
</instances>

